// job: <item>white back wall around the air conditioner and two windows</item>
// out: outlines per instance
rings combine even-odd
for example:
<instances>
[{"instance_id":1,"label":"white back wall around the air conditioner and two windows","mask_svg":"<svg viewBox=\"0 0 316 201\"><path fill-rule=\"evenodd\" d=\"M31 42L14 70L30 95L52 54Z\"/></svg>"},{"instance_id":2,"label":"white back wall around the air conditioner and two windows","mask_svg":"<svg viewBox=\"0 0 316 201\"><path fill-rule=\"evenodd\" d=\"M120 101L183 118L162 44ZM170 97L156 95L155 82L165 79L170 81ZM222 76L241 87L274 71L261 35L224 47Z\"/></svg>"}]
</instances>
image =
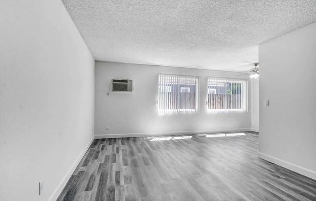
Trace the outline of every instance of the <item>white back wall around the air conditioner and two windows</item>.
<instances>
[{"instance_id":1,"label":"white back wall around the air conditioner and two windows","mask_svg":"<svg viewBox=\"0 0 316 201\"><path fill-rule=\"evenodd\" d=\"M109 137L110 134L124 134L114 136L128 136L126 134L139 136L188 131L250 129L250 111L239 114L207 114L206 112L206 77L236 78L236 75L240 73L98 61L95 66L96 137ZM193 115L158 115L158 106L156 106L156 101L158 101L158 73L201 76L199 85L200 112ZM244 78L248 79L247 76ZM134 92L110 93L107 96L111 79L134 80ZM251 97L250 91L249 99ZM110 127L110 129L107 130L106 127Z\"/></svg>"}]
</instances>

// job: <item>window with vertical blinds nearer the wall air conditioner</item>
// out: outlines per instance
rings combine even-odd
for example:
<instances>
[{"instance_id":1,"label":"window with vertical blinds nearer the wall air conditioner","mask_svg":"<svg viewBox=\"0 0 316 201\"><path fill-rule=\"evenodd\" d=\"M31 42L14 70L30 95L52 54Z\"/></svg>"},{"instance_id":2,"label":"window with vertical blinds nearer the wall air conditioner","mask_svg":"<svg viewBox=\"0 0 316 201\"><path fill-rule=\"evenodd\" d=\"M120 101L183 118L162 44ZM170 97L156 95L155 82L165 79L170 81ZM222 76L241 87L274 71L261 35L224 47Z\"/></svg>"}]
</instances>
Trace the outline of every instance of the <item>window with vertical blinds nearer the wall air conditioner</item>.
<instances>
[{"instance_id":1,"label":"window with vertical blinds nearer the wall air conditioner","mask_svg":"<svg viewBox=\"0 0 316 201\"><path fill-rule=\"evenodd\" d=\"M198 77L159 74L159 114L197 111Z\"/></svg>"}]
</instances>

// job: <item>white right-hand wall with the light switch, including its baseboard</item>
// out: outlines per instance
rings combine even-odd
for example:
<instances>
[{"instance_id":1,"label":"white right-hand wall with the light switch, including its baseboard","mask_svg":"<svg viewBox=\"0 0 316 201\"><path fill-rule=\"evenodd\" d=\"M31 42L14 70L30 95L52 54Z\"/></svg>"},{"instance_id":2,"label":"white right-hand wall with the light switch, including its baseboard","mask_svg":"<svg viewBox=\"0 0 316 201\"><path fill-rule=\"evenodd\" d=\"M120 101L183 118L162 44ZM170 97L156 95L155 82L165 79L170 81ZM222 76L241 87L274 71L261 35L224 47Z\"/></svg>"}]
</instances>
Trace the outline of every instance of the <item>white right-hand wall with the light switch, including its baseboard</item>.
<instances>
[{"instance_id":1,"label":"white right-hand wall with the light switch, including its baseboard","mask_svg":"<svg viewBox=\"0 0 316 201\"><path fill-rule=\"evenodd\" d=\"M315 33L313 23L259 45L259 157L314 179Z\"/></svg>"}]
</instances>

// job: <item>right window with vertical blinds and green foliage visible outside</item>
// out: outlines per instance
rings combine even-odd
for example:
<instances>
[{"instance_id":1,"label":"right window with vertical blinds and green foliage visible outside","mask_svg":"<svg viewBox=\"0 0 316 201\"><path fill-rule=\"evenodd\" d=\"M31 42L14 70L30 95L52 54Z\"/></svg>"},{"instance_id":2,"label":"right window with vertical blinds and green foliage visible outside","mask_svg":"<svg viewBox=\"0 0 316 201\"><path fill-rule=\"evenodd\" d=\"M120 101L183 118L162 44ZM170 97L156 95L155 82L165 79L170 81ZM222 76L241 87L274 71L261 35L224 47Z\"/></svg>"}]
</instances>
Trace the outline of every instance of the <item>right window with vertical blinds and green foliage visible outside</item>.
<instances>
[{"instance_id":1,"label":"right window with vertical blinds and green foliage visible outside","mask_svg":"<svg viewBox=\"0 0 316 201\"><path fill-rule=\"evenodd\" d=\"M210 112L245 112L246 86L246 80L208 77L208 110Z\"/></svg>"}]
</instances>

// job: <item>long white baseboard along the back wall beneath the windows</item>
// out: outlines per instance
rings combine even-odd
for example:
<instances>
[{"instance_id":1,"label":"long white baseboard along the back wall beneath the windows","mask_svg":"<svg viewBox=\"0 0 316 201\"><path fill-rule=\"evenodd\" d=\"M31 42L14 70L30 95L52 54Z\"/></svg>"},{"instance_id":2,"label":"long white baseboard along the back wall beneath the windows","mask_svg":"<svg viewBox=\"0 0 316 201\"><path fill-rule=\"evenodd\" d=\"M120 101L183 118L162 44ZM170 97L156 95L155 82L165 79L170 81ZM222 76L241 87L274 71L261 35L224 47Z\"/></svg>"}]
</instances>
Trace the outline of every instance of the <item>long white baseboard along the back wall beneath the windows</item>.
<instances>
[{"instance_id":1,"label":"long white baseboard along the back wall beneath the windows","mask_svg":"<svg viewBox=\"0 0 316 201\"><path fill-rule=\"evenodd\" d=\"M168 136L168 135L188 135L188 134L201 134L201 133L215 133L215 132L241 132L249 131L247 129L226 129L226 130L191 130L191 131L178 131L178 132L157 132L157 133L119 133L119 134L101 134L95 135L95 139L102 138L128 138L128 137L146 137L146 136Z\"/></svg>"}]
</instances>

